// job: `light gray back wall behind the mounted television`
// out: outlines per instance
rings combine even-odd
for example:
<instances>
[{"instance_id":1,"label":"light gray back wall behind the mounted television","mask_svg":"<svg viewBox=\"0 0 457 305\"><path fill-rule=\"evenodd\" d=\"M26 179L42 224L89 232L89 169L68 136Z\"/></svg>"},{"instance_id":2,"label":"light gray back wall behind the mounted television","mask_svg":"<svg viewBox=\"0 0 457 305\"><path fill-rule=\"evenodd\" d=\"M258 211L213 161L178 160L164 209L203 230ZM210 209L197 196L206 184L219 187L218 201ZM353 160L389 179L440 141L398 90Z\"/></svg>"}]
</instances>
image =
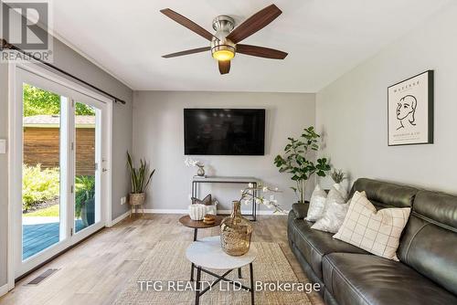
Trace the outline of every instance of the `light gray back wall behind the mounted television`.
<instances>
[{"instance_id":1,"label":"light gray back wall behind the mounted television","mask_svg":"<svg viewBox=\"0 0 457 305\"><path fill-rule=\"evenodd\" d=\"M186 209L190 182L196 168L184 164L185 108L264 108L267 110L264 156L201 156L207 174L254 176L279 187L280 203L290 208L296 198L290 175L279 174L274 156L282 153L287 137L297 137L304 127L314 125L314 94L291 93L225 93L138 91L133 93L133 155L144 157L157 169L147 207L153 209ZM218 186L201 191L211 193L229 209L239 198L240 186ZM267 208L262 208L267 210Z\"/></svg>"}]
</instances>

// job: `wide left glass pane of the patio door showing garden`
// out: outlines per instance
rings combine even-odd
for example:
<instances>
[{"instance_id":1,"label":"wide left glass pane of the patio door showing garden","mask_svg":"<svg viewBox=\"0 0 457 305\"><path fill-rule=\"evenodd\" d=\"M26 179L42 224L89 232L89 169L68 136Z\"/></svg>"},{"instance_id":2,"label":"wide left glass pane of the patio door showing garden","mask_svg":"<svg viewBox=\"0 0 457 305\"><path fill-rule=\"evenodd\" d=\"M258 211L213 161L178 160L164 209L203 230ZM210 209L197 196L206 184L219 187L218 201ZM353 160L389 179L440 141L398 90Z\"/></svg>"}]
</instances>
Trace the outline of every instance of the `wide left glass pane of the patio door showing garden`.
<instances>
[{"instance_id":1,"label":"wide left glass pane of the patio door showing garden","mask_svg":"<svg viewBox=\"0 0 457 305\"><path fill-rule=\"evenodd\" d=\"M67 98L27 82L22 88L22 259L27 260L65 238L60 235L65 204L60 120Z\"/></svg>"}]
</instances>

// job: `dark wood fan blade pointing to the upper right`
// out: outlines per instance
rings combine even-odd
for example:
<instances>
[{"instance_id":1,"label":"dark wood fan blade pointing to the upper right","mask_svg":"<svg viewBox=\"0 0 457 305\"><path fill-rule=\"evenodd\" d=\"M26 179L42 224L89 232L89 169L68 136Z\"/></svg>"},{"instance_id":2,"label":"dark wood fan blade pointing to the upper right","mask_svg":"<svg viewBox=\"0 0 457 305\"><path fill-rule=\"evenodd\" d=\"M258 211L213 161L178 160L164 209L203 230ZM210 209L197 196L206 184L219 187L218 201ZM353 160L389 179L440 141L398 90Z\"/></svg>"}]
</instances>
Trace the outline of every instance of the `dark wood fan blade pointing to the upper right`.
<instances>
[{"instance_id":1,"label":"dark wood fan blade pointing to the upper right","mask_svg":"<svg viewBox=\"0 0 457 305\"><path fill-rule=\"evenodd\" d=\"M261 28L268 26L271 21L276 19L276 17L281 14L282 11L278 8L278 6L267 6L256 14L250 16L245 22L240 24L230 34L228 34L227 38L234 43L239 43L239 41L246 37L250 37Z\"/></svg>"}]
</instances>

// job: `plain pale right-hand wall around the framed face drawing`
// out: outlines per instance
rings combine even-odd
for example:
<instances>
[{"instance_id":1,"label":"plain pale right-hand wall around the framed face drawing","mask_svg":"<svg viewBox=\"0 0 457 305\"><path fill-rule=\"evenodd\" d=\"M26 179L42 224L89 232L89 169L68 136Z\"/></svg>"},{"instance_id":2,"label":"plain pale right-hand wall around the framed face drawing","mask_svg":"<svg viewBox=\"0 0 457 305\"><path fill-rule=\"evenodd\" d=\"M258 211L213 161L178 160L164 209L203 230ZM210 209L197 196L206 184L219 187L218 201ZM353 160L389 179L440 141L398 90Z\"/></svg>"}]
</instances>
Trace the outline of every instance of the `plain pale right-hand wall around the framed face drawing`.
<instances>
[{"instance_id":1,"label":"plain pale right-hand wall around the framed face drawing","mask_svg":"<svg viewBox=\"0 0 457 305\"><path fill-rule=\"evenodd\" d=\"M316 124L324 154L358 177L457 190L457 5L319 91ZM435 143L388 147L387 89L435 70Z\"/></svg>"}]
</instances>

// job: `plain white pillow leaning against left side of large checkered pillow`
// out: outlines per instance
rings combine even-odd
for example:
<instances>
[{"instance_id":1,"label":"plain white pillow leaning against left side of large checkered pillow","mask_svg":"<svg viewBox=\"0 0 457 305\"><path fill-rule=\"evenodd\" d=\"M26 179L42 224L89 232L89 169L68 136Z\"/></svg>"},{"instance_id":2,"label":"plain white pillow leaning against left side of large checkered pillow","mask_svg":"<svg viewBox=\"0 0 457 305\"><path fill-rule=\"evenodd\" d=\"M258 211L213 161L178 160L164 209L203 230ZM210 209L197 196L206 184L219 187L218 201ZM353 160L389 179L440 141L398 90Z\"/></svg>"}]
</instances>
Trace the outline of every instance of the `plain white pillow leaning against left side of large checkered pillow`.
<instances>
[{"instance_id":1,"label":"plain white pillow leaning against left side of large checkered pillow","mask_svg":"<svg viewBox=\"0 0 457 305\"><path fill-rule=\"evenodd\" d=\"M325 200L324 213L311 228L325 232L336 233L343 221L349 204L345 202L345 196L332 186Z\"/></svg>"}]
</instances>

